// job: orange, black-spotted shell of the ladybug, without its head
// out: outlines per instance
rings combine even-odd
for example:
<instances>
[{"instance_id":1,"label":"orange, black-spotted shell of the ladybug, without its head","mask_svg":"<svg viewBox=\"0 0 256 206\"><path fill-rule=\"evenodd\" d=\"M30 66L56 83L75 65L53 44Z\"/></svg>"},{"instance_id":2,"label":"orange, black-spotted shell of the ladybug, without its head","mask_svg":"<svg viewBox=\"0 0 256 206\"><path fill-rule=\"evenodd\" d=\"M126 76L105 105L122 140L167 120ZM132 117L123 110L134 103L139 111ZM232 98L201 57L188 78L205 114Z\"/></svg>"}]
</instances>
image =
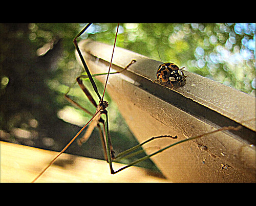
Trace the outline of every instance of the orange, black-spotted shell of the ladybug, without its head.
<instances>
[{"instance_id":1,"label":"orange, black-spotted shell of the ladybug, without its head","mask_svg":"<svg viewBox=\"0 0 256 206\"><path fill-rule=\"evenodd\" d=\"M158 67L157 79L160 82L167 82L169 80L170 73L175 70L179 70L179 67L174 63L163 63Z\"/></svg>"}]
</instances>

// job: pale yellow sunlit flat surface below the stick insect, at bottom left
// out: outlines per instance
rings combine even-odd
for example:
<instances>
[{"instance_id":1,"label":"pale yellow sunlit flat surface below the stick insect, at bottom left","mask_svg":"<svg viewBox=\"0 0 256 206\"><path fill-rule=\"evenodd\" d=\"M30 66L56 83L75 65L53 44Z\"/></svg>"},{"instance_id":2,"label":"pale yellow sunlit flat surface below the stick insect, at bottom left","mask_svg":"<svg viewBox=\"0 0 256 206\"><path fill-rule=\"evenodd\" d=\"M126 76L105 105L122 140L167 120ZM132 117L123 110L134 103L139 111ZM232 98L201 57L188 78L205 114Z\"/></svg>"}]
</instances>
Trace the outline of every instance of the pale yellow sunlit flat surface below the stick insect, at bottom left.
<instances>
[{"instance_id":1,"label":"pale yellow sunlit flat surface below the stick insect, at bottom left","mask_svg":"<svg viewBox=\"0 0 256 206\"><path fill-rule=\"evenodd\" d=\"M31 182L57 152L1 142L1 182ZM114 163L114 169L122 167ZM36 182L170 182L148 170L131 167L110 174L105 161L62 154Z\"/></svg>"}]
</instances>

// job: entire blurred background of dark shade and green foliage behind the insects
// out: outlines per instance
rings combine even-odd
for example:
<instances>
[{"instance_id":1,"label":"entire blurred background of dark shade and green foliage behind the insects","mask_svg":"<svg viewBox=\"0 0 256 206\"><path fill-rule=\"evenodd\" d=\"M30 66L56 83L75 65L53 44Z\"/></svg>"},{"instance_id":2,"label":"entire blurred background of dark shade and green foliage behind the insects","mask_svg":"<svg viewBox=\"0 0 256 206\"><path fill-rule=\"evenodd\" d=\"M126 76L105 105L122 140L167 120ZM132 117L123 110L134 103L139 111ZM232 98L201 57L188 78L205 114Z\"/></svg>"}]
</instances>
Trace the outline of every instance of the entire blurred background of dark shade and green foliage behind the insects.
<instances>
[{"instance_id":1,"label":"entire blurred background of dark shade and green foliage behind the insects","mask_svg":"<svg viewBox=\"0 0 256 206\"><path fill-rule=\"evenodd\" d=\"M83 72L72 41L85 25L0 25L1 140L60 151L90 119L64 98ZM113 44L116 27L93 24L81 38ZM255 97L255 24L120 24L117 46L185 66L189 72ZM84 82L92 88L90 82ZM102 85L97 85L102 93ZM71 89L70 96L95 111L79 86ZM137 141L115 103L108 95L106 98L112 141L119 153ZM86 144L73 143L67 152L103 159L97 129ZM123 159L123 163L129 161ZM151 161L140 166L156 169Z\"/></svg>"}]
</instances>

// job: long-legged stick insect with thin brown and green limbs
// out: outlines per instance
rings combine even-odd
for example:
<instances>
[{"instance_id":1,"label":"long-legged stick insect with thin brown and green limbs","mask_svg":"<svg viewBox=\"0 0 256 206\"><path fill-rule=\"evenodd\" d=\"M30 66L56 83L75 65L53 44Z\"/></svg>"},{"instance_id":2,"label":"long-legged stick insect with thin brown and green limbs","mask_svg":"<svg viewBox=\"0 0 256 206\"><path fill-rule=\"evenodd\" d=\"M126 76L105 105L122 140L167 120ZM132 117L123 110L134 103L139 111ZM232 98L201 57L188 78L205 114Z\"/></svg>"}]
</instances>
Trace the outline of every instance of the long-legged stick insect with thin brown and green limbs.
<instances>
[{"instance_id":1,"label":"long-legged stick insect with thin brown and green limbs","mask_svg":"<svg viewBox=\"0 0 256 206\"><path fill-rule=\"evenodd\" d=\"M189 138L189 139L185 139L185 140L181 140L179 142L176 142L174 144L171 144L169 146L166 146L162 149L159 149L158 151L156 152L153 152L152 154L148 154L142 158L139 158L137 161L129 164L129 165L126 165L126 166L123 166L117 170L114 170L113 166L112 166L112 162L114 161L114 159L118 158L118 157L121 157L121 156L124 156L124 155L127 155L131 152L133 152L134 150L136 150L137 148L139 148L140 146L148 143L148 142L151 142L153 140L156 140L156 139L160 139L160 138L172 138L172 139L177 139L178 136L172 136L172 135L160 135L160 136L154 136L148 140L146 140L145 142L135 146L135 147L132 147L124 152L121 152L120 154L118 155L115 155L115 152L114 152L114 149L113 149L113 146L112 146L112 143L111 143L111 136L110 136L110 131L109 131L109 117L108 117L108 111L106 110L106 108L108 107L108 102L104 100L104 95L105 95L105 90L106 90L106 85L108 83L108 79L109 79L109 75L110 74L116 74L116 73L120 73L120 72L115 72L115 73L110 73L110 68L111 68L111 64L112 64L112 59L113 59L113 55L114 55L114 49L115 49L115 45L116 45L116 40L117 40L117 33L118 33L118 27L119 25L117 26L117 31L116 31L116 36L115 36L115 40L114 40L114 46L113 46L113 52L112 52L112 57L111 57L111 61L110 61L110 65L109 65L109 71L108 73L106 74L106 80L105 80L105 85L104 85L104 90L103 90L103 94L102 96L99 94L99 91L98 91L98 88L94 82L94 79L93 79L93 75L91 75L90 71L89 71L89 68L86 64L86 62L84 61L83 59L83 56L80 52L80 49L78 47L78 44L77 44L77 38L80 37L89 27L90 27L91 24L88 24L86 27L84 27L84 29L81 30L81 32L79 32L74 40L73 40L73 43L75 45L75 48L76 48L76 51L78 52L78 55L81 59L81 62L83 64L83 67L84 67L84 70L86 71L87 73L87 76L79 76L76 81L78 83L78 85L80 86L80 88L83 90L84 94L86 94L86 96L88 97L88 99L90 100L90 102L96 107L96 112L94 114L92 114L91 112L89 112L87 109L84 109L83 107L81 107L79 104L77 104L75 101L73 101L69 96L68 96L68 92L66 93L65 95L65 98L71 102L72 104L78 106L79 108L81 108L83 111L89 113L92 118L88 121L88 123L86 125L84 125L80 131L73 137L73 139L67 144L67 146L65 148L63 148L59 153L58 155L53 158L53 160L48 164L48 166L42 170L36 177L35 179L32 181L32 182L35 182L55 161L56 159L63 153L66 151L66 149L77 139L77 137L79 136L79 134L86 128L88 127L86 133L84 134L83 138L79 140L79 143L82 144L83 142L86 142L87 139L89 138L90 134L92 133L93 129L97 126L99 131L100 131L100 137L101 137L101 142L102 142L102 146L103 146L103 150L104 150L104 156L105 156L105 159L106 159L106 162L109 163L109 167L110 167L110 172L111 174L116 174L126 168L129 168L139 162L142 162L144 161L145 159L148 159L154 155L157 155L158 153L164 151L164 150L167 150L169 149L170 147L173 147L175 145L178 145L178 144L181 144L183 142L186 142L186 141L191 141L191 140L195 140L195 139L199 139L201 138L202 136L205 136L206 134L212 134L212 133L216 133L218 131L223 131L223 130L239 130L241 128L241 126L238 126L238 127L233 127L233 126L227 126L227 127L222 127L220 129L217 129L215 131L211 131L211 132L208 132L206 134L202 134L202 135L197 135L197 136L194 136L192 138ZM127 68L129 68L132 64L136 63L136 60L131 60L131 63L128 64L124 69L126 70ZM122 72L122 71L121 71ZM102 74L100 74L102 75ZM98 99L99 99L99 104L96 103L96 101L93 99L92 95L90 94L89 90L86 88L86 86L84 86L84 84L82 83L82 79L84 78L89 78L92 86L93 86L93 89L94 89L94 92L97 94L98 96ZM105 120L103 120L101 118L101 116L104 115L105 116ZM101 129L101 125L102 124L102 127L103 129Z\"/></svg>"}]
</instances>

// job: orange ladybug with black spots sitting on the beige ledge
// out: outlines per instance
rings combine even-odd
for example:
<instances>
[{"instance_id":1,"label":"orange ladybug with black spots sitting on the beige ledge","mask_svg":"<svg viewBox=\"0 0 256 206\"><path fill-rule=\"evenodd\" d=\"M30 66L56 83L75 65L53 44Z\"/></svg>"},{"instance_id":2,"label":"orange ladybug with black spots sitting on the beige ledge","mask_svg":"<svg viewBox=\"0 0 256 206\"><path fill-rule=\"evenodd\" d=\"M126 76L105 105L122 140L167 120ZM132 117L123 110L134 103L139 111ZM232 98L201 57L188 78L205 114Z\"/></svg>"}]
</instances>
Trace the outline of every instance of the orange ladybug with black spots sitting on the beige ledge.
<instances>
[{"instance_id":1,"label":"orange ladybug with black spots sitting on the beige ledge","mask_svg":"<svg viewBox=\"0 0 256 206\"><path fill-rule=\"evenodd\" d=\"M179 68L176 64L166 62L161 65L159 65L158 70L157 70L157 79L158 81L162 83L167 83L169 82L170 85L173 87L172 82L178 82L179 86L181 82L183 82L187 76L184 76L184 73L181 71L183 68Z\"/></svg>"}]
</instances>

